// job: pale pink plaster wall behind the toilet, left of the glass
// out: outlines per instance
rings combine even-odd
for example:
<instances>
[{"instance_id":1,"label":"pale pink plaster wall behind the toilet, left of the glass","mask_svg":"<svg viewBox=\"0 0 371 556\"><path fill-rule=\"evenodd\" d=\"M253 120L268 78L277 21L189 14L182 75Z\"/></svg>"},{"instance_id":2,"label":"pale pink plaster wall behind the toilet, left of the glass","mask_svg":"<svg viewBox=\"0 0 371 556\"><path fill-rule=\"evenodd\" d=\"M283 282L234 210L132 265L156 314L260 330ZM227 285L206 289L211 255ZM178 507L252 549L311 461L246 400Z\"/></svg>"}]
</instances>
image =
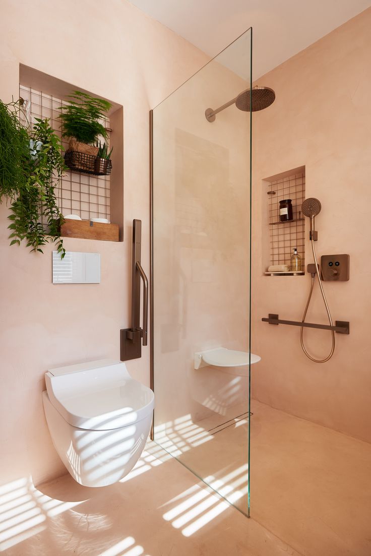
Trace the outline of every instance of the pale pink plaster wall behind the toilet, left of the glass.
<instances>
[{"instance_id":1,"label":"pale pink plaster wall behind the toilet, left of the glass","mask_svg":"<svg viewBox=\"0 0 371 556\"><path fill-rule=\"evenodd\" d=\"M3 0L0 37L3 101L17 98L23 63L124 107L125 240L65 240L67 250L100 252L100 285L52 285L52 247L44 255L9 247L8 210L0 207L1 483L29 473L40 483L65 471L44 420L44 372L119 358L119 330L130 320L133 218L143 222L149 271L149 110L207 58L125 0L109 7L98 0ZM149 347L127 366L149 384Z\"/></svg>"}]
</instances>

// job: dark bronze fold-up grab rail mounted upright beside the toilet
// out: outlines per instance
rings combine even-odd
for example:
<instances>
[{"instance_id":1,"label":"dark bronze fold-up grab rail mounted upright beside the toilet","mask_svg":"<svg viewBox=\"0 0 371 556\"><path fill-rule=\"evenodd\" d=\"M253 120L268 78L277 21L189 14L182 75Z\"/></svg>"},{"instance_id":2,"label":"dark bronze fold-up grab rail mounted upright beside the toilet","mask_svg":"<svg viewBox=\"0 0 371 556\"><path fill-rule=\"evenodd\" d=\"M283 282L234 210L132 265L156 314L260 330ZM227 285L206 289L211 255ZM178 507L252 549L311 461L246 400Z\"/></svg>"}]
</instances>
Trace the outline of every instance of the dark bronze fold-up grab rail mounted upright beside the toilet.
<instances>
[{"instance_id":1,"label":"dark bronze fold-up grab rail mounted upright beside the toilet","mask_svg":"<svg viewBox=\"0 0 371 556\"><path fill-rule=\"evenodd\" d=\"M141 265L142 221L133 220L131 282L131 327L120 330L120 360L128 361L142 356L148 336L148 279ZM140 289L143 281L143 327L140 326Z\"/></svg>"}]
</instances>

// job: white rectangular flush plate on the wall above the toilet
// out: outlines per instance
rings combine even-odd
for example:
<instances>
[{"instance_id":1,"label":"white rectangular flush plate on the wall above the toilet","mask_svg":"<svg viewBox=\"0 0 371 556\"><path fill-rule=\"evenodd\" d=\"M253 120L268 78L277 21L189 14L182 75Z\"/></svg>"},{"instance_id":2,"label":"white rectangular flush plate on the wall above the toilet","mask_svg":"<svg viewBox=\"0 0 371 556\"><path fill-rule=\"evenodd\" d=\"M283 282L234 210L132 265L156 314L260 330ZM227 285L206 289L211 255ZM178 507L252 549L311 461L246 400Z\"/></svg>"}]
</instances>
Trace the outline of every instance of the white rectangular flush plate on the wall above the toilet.
<instances>
[{"instance_id":1,"label":"white rectangular flush plate on the wall above the toilet","mask_svg":"<svg viewBox=\"0 0 371 556\"><path fill-rule=\"evenodd\" d=\"M79 253L66 251L61 259L58 251L53 251L53 284L100 284L101 255L99 253Z\"/></svg>"}]
</instances>

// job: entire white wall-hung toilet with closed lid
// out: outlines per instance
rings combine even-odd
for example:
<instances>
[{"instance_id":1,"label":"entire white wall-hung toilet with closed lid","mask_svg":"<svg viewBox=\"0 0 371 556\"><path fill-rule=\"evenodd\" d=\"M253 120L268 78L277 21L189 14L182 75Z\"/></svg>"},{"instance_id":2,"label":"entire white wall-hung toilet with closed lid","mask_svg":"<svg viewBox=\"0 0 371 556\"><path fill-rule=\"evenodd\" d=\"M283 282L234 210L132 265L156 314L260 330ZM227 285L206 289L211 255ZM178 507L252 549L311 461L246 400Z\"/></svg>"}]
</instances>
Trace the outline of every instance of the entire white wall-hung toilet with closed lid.
<instances>
[{"instance_id":1,"label":"entire white wall-hung toilet with closed lid","mask_svg":"<svg viewBox=\"0 0 371 556\"><path fill-rule=\"evenodd\" d=\"M150 433L152 390L111 360L51 369L45 381L47 424L73 479L106 486L127 475Z\"/></svg>"}]
</instances>

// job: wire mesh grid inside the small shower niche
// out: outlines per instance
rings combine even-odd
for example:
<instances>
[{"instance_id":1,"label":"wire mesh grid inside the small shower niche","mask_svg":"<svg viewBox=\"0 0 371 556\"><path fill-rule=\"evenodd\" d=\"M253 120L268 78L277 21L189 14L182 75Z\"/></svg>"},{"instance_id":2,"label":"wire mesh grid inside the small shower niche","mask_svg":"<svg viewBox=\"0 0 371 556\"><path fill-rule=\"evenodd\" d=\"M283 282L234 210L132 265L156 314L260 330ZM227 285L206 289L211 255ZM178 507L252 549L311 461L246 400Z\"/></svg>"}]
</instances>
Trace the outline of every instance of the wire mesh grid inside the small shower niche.
<instances>
[{"instance_id":1,"label":"wire mesh grid inside the small shower niche","mask_svg":"<svg viewBox=\"0 0 371 556\"><path fill-rule=\"evenodd\" d=\"M294 247L305 265L305 221L301 205L305 198L305 173L271 181L268 185L270 264L290 265ZM293 220L280 222L279 202L291 199Z\"/></svg>"}]
</instances>

